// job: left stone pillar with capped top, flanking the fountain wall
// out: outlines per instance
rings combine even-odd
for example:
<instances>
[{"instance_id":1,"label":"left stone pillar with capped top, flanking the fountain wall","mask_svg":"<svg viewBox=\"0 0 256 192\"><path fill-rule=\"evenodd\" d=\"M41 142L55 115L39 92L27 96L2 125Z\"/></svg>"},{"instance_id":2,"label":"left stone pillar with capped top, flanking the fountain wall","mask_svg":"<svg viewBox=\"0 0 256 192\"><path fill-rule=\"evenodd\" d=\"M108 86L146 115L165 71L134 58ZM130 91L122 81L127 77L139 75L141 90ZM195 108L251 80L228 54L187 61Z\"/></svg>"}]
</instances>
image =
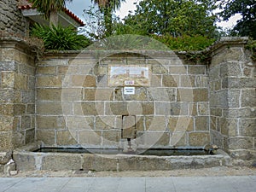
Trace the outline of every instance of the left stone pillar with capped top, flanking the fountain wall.
<instances>
[{"instance_id":1,"label":"left stone pillar with capped top, flanking the fountain wall","mask_svg":"<svg viewBox=\"0 0 256 192\"><path fill-rule=\"evenodd\" d=\"M35 54L24 42L0 39L0 152L34 141Z\"/></svg>"}]
</instances>

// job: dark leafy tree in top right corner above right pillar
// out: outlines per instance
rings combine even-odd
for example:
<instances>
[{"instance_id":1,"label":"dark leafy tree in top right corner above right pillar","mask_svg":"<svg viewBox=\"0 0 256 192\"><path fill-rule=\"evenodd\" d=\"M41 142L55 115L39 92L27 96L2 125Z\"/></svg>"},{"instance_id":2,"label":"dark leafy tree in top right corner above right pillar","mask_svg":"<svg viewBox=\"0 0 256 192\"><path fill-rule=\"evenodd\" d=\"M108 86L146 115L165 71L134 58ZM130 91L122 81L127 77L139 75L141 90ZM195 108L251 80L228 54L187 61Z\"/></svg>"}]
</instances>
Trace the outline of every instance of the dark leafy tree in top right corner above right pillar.
<instances>
[{"instance_id":1,"label":"dark leafy tree in top right corner above right pillar","mask_svg":"<svg viewBox=\"0 0 256 192\"><path fill-rule=\"evenodd\" d=\"M256 39L256 2L255 0L220 0L220 8L224 9L220 16L229 20L231 16L241 14L232 35L250 36Z\"/></svg>"}]
</instances>

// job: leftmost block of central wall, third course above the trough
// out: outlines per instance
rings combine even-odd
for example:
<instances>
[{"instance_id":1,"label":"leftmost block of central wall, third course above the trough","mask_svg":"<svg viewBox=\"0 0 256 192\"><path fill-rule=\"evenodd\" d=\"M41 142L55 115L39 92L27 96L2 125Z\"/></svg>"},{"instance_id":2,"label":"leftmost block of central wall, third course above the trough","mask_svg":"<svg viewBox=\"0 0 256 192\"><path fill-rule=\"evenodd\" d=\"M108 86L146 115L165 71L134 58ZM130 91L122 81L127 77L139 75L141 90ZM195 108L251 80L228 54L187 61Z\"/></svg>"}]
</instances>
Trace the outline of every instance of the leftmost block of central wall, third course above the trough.
<instances>
[{"instance_id":1,"label":"leftmost block of central wall, third course above the trough","mask_svg":"<svg viewBox=\"0 0 256 192\"><path fill-rule=\"evenodd\" d=\"M61 102L37 102L37 113L41 115L63 114Z\"/></svg>"}]
</instances>

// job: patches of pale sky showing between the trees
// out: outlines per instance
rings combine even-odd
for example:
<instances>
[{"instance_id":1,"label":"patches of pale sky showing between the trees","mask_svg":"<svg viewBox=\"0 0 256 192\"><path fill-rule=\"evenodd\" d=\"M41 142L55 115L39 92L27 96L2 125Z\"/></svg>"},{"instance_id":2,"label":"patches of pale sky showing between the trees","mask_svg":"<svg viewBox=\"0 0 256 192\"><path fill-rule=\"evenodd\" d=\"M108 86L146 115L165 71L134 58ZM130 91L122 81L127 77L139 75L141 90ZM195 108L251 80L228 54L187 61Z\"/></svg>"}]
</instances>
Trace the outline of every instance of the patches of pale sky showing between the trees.
<instances>
[{"instance_id":1,"label":"patches of pale sky showing between the trees","mask_svg":"<svg viewBox=\"0 0 256 192\"><path fill-rule=\"evenodd\" d=\"M136 5L134 3L138 3L140 0L126 0L125 3L122 3L119 11L116 12L116 15L122 19L125 15L129 14L129 10L136 9ZM86 20L86 15L84 15L84 9L89 9L90 5L93 5L90 0L73 0L71 3L67 3L67 9L70 9L75 15L78 15L79 18L83 21ZM218 26L230 28L231 26L236 25L236 20L240 19L240 15L235 15L230 18L228 22L219 22Z\"/></svg>"}]
</instances>

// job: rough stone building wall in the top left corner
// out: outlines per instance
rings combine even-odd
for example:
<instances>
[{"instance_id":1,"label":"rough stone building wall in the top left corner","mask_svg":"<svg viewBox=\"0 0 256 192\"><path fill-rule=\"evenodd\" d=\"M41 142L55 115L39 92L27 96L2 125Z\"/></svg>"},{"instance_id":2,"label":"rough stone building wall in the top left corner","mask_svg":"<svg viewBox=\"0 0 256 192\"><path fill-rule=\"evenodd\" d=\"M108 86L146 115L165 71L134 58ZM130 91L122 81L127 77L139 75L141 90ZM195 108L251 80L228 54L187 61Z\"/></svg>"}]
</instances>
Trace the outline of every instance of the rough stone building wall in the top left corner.
<instances>
[{"instance_id":1,"label":"rough stone building wall in the top left corner","mask_svg":"<svg viewBox=\"0 0 256 192\"><path fill-rule=\"evenodd\" d=\"M0 31L26 36L28 21L18 9L19 0L0 1Z\"/></svg>"}]
</instances>

